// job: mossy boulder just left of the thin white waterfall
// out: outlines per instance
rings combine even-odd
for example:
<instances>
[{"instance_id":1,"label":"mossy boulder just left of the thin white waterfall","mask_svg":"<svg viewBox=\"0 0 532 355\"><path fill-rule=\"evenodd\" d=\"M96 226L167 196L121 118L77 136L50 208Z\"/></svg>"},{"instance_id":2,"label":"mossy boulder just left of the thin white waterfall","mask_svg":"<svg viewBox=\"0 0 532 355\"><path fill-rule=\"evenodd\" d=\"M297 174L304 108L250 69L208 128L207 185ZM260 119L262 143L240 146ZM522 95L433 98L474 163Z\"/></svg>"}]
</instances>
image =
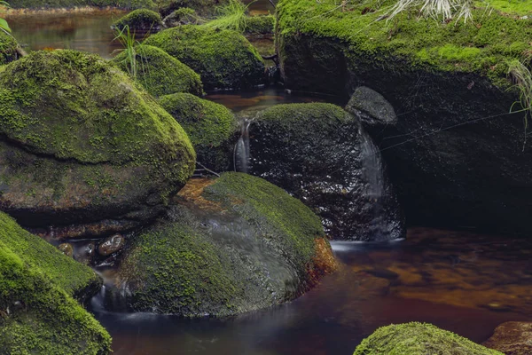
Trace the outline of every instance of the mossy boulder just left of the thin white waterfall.
<instances>
[{"instance_id":1,"label":"mossy boulder just left of the thin white waterfall","mask_svg":"<svg viewBox=\"0 0 532 355\"><path fill-rule=\"evenodd\" d=\"M188 134L198 154L198 162L210 170L230 169L239 129L231 110L185 93L163 96L159 104Z\"/></svg>"}]
</instances>

